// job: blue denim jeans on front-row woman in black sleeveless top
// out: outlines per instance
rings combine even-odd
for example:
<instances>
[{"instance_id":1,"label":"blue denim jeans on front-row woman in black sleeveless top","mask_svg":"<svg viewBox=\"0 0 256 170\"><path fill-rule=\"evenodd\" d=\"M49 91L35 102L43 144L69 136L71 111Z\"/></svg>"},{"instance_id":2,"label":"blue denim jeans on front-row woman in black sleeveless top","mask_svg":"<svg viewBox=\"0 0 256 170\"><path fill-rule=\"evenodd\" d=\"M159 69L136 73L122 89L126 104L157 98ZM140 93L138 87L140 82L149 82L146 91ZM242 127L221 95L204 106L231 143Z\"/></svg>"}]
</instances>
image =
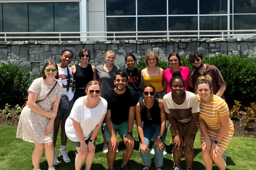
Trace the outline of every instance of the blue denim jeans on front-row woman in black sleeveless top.
<instances>
[{"instance_id":1,"label":"blue denim jeans on front-row woman in black sleeveless top","mask_svg":"<svg viewBox=\"0 0 256 170\"><path fill-rule=\"evenodd\" d=\"M160 123L155 124L155 125L148 125L148 124L142 122L142 129L143 129L144 139L146 141L146 144L148 145L148 152L147 153L142 154L140 152L140 156L143 160L144 165L148 165L151 162L150 153L149 153L149 144L150 144L150 141L151 141L154 133L156 133L156 139L157 139L160 128L161 128ZM164 144L166 134L167 134L167 128L165 128L165 130L164 130L164 135L163 135L163 138L162 138L162 143L163 144ZM140 141L140 146L141 146L141 141ZM154 161L155 161L156 166L163 166L163 159L164 159L163 158L163 156L164 156L163 152L164 152L164 150L162 149L162 151L160 151L160 149L159 149L158 152L157 152L156 145L154 146L154 150L155 150Z\"/></svg>"}]
</instances>

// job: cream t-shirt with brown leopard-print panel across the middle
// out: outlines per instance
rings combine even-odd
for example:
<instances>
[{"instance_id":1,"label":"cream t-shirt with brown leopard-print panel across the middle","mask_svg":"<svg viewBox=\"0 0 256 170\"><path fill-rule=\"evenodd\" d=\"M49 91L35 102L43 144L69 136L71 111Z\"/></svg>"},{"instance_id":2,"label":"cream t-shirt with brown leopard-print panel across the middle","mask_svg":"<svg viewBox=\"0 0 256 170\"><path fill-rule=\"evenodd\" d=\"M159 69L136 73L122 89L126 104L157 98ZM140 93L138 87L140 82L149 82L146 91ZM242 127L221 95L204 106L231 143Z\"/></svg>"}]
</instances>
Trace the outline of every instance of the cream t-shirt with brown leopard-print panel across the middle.
<instances>
[{"instance_id":1,"label":"cream t-shirt with brown leopard-print panel across the middle","mask_svg":"<svg viewBox=\"0 0 256 170\"><path fill-rule=\"evenodd\" d=\"M188 91L186 93L185 101L181 105L177 105L172 100L172 92L166 94L163 98L164 111L171 114L180 123L190 122L191 114L200 112L200 106L196 94Z\"/></svg>"}]
</instances>

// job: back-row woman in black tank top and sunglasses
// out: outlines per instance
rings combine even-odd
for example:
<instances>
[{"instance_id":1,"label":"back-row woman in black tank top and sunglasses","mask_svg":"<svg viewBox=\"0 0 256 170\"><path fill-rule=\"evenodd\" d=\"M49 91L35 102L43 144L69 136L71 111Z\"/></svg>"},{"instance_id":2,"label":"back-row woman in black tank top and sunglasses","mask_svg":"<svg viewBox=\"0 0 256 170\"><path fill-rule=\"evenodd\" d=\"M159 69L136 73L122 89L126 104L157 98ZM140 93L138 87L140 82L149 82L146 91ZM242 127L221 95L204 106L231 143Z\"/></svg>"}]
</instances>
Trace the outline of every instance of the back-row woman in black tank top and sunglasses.
<instances>
[{"instance_id":1,"label":"back-row woman in black tank top and sunglasses","mask_svg":"<svg viewBox=\"0 0 256 170\"><path fill-rule=\"evenodd\" d=\"M89 81L96 80L96 67L87 63L88 61L90 63L90 51L84 48L79 52L78 56L81 63L71 66L74 82L76 83L74 101L79 97L86 95L85 88Z\"/></svg>"}]
</instances>

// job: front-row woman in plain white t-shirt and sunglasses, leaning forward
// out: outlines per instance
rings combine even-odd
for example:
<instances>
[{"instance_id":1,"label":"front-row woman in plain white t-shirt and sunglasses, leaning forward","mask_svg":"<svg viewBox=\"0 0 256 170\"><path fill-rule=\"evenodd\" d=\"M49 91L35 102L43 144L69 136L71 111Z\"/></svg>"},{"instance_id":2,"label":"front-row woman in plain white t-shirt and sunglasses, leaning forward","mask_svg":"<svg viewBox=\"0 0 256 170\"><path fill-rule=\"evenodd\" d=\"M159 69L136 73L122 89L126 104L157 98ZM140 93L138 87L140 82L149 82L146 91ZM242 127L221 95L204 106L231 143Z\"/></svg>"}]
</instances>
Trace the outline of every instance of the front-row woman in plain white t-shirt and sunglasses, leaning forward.
<instances>
[{"instance_id":1,"label":"front-row woman in plain white t-shirt and sunglasses, leaning forward","mask_svg":"<svg viewBox=\"0 0 256 170\"><path fill-rule=\"evenodd\" d=\"M95 139L107 113L108 103L100 97L98 81L90 81L86 86L86 96L78 98L65 124L70 142L76 147L75 168L80 170L84 160L85 169L91 169L95 153Z\"/></svg>"}]
</instances>

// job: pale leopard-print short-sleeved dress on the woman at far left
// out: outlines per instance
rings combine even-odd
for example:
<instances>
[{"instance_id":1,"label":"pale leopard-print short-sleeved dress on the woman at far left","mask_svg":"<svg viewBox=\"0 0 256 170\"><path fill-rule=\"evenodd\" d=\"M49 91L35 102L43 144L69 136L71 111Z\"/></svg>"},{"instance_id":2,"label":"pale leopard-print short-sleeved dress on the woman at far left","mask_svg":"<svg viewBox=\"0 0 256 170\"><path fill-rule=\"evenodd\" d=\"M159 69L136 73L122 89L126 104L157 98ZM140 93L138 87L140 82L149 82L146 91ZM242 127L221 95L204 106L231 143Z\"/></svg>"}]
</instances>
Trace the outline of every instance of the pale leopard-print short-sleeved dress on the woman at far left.
<instances>
[{"instance_id":1,"label":"pale leopard-print short-sleeved dress on the woman at far left","mask_svg":"<svg viewBox=\"0 0 256 170\"><path fill-rule=\"evenodd\" d=\"M54 84L55 82L50 86L46 85L43 78L37 78L32 82L28 91L37 93L36 100L42 100L48 92L50 92ZM62 85L57 83L49 96L36 104L48 112L52 109L52 103L56 100L57 95L61 94L63 94ZM49 121L50 119L48 117L39 115L32 111L28 106L25 106L20 114L16 137L32 143L50 143L53 141L53 133L49 136L44 135L45 126Z\"/></svg>"}]
</instances>

